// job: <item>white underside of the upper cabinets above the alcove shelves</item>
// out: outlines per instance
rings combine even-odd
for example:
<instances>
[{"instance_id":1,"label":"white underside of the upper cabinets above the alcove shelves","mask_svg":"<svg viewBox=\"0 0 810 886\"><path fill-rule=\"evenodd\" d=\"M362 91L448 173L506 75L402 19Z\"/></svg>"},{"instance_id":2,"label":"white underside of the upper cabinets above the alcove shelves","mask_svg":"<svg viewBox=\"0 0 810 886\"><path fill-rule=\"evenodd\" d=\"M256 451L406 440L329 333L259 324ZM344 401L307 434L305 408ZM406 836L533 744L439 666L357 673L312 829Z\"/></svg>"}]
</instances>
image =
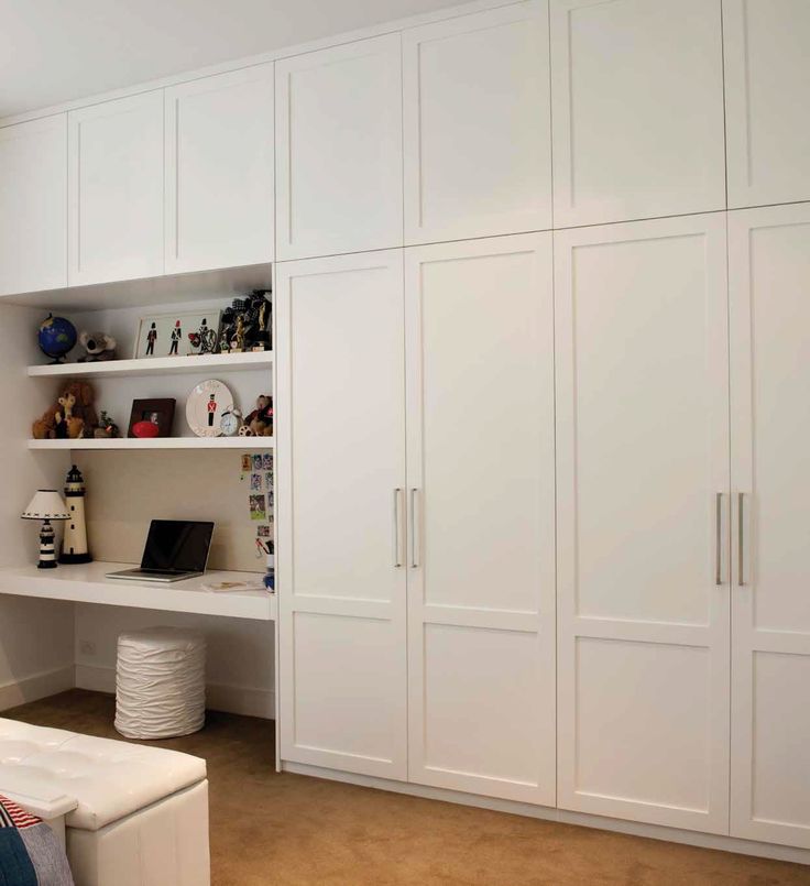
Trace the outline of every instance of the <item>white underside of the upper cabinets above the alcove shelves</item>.
<instances>
[{"instance_id":1,"label":"white underside of the upper cabinets above the alcove shelves","mask_svg":"<svg viewBox=\"0 0 810 886\"><path fill-rule=\"evenodd\" d=\"M56 313L230 298L251 289L271 288L272 267L272 264L250 264L217 271L97 283L91 286L68 286L0 296L0 304L24 305Z\"/></svg>"}]
</instances>

